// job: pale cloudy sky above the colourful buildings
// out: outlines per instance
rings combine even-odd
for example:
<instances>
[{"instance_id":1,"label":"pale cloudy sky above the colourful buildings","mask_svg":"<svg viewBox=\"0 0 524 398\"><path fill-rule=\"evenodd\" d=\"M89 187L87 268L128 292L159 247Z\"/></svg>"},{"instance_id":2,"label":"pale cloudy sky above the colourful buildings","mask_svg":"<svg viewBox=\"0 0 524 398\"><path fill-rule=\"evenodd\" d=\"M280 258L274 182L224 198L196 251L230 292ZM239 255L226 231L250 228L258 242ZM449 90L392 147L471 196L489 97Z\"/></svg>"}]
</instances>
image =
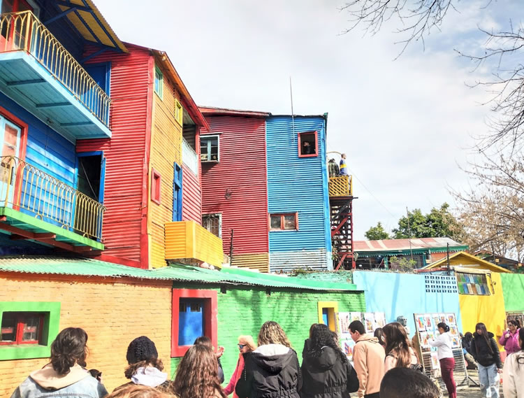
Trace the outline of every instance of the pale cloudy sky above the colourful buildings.
<instances>
[{"instance_id":1,"label":"pale cloudy sky above the colourful buildings","mask_svg":"<svg viewBox=\"0 0 524 398\"><path fill-rule=\"evenodd\" d=\"M479 27L521 22L518 2L459 1L397 57L397 21L342 34L344 0L95 0L122 41L168 52L198 105L291 114L291 76L294 113L328 113L328 151L347 153L357 240L406 208L456 206L449 190L469 186L459 166L490 117L490 94L471 86L491 70L455 50L478 54Z\"/></svg>"}]
</instances>

